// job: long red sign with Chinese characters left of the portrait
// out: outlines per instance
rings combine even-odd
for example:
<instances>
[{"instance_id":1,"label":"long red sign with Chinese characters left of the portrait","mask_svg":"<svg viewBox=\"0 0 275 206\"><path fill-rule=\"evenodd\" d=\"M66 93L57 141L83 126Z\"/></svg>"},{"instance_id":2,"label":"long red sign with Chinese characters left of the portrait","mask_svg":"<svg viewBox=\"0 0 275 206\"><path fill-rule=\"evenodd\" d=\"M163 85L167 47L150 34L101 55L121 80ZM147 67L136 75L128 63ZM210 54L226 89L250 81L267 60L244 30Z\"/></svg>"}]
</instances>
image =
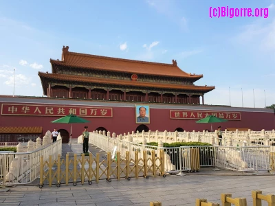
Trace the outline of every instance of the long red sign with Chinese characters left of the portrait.
<instances>
[{"instance_id":1,"label":"long red sign with Chinese characters left of the portrait","mask_svg":"<svg viewBox=\"0 0 275 206\"><path fill-rule=\"evenodd\" d=\"M113 117L113 108L91 106L54 106L34 104L2 104L1 115Z\"/></svg>"}]
</instances>

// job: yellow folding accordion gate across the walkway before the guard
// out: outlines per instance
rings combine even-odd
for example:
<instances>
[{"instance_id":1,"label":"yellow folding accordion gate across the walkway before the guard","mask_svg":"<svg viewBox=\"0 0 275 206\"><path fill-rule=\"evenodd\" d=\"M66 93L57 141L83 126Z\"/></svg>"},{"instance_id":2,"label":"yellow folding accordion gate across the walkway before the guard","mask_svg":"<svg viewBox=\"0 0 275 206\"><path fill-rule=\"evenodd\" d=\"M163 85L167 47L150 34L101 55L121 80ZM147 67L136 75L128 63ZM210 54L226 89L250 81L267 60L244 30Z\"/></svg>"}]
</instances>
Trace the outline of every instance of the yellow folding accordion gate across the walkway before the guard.
<instances>
[{"instance_id":1,"label":"yellow folding accordion gate across the walkway before the guard","mask_svg":"<svg viewBox=\"0 0 275 206\"><path fill-rule=\"evenodd\" d=\"M80 157L74 154L72 158L67 154L65 159L61 159L61 155L58 155L56 161L52 161L51 156L48 161L44 161L42 156L39 188L44 185L60 187L61 184L68 185L69 183L76 186L77 183L84 184L85 181L91 185L92 181L98 183L102 179L111 182L111 179L119 180L121 178L130 181L131 178L139 177L146 179L157 175L166 177L164 174L164 150L160 150L159 157L154 150L151 152L151 157L147 158L146 151L144 151L143 158L139 158L136 151L133 159L130 159L128 151L125 159L120 158L120 152L116 152L116 159L111 159L111 152L107 152L107 158L105 157L101 161L99 153L96 154L96 157L93 157L91 153L89 156L82 154Z\"/></svg>"}]
</instances>

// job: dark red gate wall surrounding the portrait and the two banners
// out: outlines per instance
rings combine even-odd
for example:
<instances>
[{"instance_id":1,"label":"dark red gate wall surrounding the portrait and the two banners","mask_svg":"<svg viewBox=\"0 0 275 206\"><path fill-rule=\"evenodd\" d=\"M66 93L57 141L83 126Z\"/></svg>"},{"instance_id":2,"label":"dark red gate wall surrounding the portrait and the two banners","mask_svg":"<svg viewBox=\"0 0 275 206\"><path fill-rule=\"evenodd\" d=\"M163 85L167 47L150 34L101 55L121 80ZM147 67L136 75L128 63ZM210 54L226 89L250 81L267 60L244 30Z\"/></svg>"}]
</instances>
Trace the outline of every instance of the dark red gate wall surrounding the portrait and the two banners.
<instances>
[{"instance_id":1,"label":"dark red gate wall surrounding the portrait and the two banners","mask_svg":"<svg viewBox=\"0 0 275 206\"><path fill-rule=\"evenodd\" d=\"M6 103L6 102L5 102ZM1 106L1 102L0 102ZM1 107L0 107L1 108ZM171 108L175 109L175 108ZM194 106L194 109L196 107ZM208 106L208 109L210 107ZM184 130L210 130L210 124L197 124L197 119L170 119L170 109L150 108L150 122L146 124L152 131L174 131L175 128L181 127ZM0 115L0 126L43 126L43 135L47 130L65 129L69 132L68 124L53 124L54 119L60 117L43 117L43 116L14 116ZM72 137L76 138L81 135L84 126L89 126L89 131L96 130L98 127L104 127L111 133L119 135L120 133L128 133L135 130L140 124L135 123L135 108L134 107L113 107L113 117L85 117L89 120L88 124L72 124ZM241 111L241 121L228 121L221 124L212 124L213 130L217 126L222 128L251 128L252 130L272 130L275 129L274 113L264 112L243 112Z\"/></svg>"}]
</instances>

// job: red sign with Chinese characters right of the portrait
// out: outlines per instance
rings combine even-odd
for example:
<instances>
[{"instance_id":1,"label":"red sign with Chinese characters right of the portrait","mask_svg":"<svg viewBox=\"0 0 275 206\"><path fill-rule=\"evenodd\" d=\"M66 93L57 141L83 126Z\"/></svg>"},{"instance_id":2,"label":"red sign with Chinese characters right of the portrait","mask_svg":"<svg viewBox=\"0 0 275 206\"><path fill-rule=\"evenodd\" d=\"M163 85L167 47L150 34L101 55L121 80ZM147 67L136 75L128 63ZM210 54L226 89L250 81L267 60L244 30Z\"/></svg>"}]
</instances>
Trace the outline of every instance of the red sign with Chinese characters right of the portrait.
<instances>
[{"instance_id":1,"label":"red sign with Chinese characters right of the portrait","mask_svg":"<svg viewBox=\"0 0 275 206\"><path fill-rule=\"evenodd\" d=\"M241 120L241 113L239 112L170 110L170 119L203 119L208 115L228 120Z\"/></svg>"}]
</instances>

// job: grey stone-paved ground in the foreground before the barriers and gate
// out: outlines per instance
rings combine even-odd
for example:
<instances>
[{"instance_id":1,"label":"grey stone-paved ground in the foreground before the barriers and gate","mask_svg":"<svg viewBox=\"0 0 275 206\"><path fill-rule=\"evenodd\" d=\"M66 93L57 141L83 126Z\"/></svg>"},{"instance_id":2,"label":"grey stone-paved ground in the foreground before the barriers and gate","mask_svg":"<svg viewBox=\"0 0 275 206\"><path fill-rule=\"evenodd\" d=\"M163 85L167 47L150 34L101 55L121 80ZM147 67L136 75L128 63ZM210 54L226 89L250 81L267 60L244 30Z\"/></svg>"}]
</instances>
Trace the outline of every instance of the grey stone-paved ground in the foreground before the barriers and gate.
<instances>
[{"instance_id":1,"label":"grey stone-paved ground in the foreground before the barriers and gate","mask_svg":"<svg viewBox=\"0 0 275 206\"><path fill-rule=\"evenodd\" d=\"M73 144L74 146L74 144ZM89 148L94 154L99 152ZM63 152L69 151L67 145ZM132 205L149 206L150 201L166 205L195 205L196 198L221 203L221 193L231 193L232 197L247 198L252 205L252 190L262 190L263 194L275 194L275 177L266 173L257 175L225 170L212 171L211 168L186 176L167 175L150 179L113 179L111 183L101 180L98 184L78 183L61 187L45 185L22 185L10 188L10 192L0 193L0 205ZM264 203L263 205L267 205Z\"/></svg>"}]
</instances>

